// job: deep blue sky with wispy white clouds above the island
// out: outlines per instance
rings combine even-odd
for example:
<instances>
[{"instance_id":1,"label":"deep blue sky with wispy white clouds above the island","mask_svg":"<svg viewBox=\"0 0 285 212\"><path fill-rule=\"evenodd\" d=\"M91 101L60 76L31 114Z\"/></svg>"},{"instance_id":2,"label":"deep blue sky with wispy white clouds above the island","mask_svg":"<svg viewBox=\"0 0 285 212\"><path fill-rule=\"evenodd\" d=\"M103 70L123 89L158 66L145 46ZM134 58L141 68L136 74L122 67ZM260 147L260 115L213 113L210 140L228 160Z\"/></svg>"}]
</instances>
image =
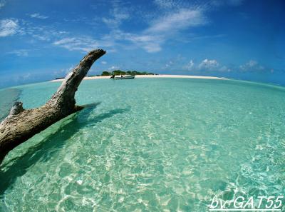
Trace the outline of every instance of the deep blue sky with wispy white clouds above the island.
<instances>
[{"instance_id":1,"label":"deep blue sky with wispy white clouds above the island","mask_svg":"<svg viewBox=\"0 0 285 212\"><path fill-rule=\"evenodd\" d=\"M0 0L0 88L136 70L285 85L283 0Z\"/></svg>"}]
</instances>

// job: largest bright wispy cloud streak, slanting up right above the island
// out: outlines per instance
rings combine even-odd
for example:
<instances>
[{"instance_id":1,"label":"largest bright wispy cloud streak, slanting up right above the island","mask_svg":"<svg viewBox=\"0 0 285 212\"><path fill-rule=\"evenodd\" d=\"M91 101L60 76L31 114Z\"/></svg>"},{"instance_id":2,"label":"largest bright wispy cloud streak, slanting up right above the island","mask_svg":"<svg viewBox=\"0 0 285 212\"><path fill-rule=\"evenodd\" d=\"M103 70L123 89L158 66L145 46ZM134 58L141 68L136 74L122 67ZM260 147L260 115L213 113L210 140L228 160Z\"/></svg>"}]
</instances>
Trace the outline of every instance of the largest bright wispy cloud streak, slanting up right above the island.
<instances>
[{"instance_id":1,"label":"largest bright wispy cloud streak, slanting up right above the island","mask_svg":"<svg viewBox=\"0 0 285 212\"><path fill-rule=\"evenodd\" d=\"M151 21L147 29L139 33L128 33L117 29L111 32L109 38L114 41L130 41L131 44L153 53L161 51L165 41L172 39L180 31L206 22L202 9L180 9L174 14L160 16Z\"/></svg>"}]
</instances>

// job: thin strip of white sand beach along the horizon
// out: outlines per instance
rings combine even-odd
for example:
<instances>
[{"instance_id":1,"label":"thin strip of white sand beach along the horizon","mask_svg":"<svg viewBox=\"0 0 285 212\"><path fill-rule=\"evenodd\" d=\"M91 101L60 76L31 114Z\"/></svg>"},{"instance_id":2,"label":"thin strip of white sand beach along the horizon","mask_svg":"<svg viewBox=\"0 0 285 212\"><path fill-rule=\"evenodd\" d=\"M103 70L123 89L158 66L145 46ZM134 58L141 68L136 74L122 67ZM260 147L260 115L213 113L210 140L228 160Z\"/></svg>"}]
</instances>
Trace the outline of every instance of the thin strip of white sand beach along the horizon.
<instances>
[{"instance_id":1,"label":"thin strip of white sand beach along the horizon","mask_svg":"<svg viewBox=\"0 0 285 212\"><path fill-rule=\"evenodd\" d=\"M172 74L157 74L157 75L136 75L135 78L187 78L187 79L219 79L227 80L227 78L217 76L192 76L192 75L172 75ZM83 80L91 79L110 79L110 76L86 76ZM63 81L64 79L53 79L52 82Z\"/></svg>"}]
</instances>

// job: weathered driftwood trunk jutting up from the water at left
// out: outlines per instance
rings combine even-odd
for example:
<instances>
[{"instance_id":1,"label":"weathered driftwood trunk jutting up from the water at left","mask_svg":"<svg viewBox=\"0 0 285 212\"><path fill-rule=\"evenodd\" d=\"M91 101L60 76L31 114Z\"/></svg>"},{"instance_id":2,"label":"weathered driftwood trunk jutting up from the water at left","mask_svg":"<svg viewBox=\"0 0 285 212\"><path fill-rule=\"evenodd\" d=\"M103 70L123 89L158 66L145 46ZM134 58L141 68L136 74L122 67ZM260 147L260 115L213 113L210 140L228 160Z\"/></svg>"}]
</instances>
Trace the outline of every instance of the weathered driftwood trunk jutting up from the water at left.
<instances>
[{"instance_id":1,"label":"weathered driftwood trunk jutting up from the water at left","mask_svg":"<svg viewBox=\"0 0 285 212\"><path fill-rule=\"evenodd\" d=\"M14 104L9 116L0 123L0 164L13 148L83 108L76 106L74 95L92 64L103 54L105 51L98 49L84 56L45 105L25 110L21 102Z\"/></svg>"}]
</instances>

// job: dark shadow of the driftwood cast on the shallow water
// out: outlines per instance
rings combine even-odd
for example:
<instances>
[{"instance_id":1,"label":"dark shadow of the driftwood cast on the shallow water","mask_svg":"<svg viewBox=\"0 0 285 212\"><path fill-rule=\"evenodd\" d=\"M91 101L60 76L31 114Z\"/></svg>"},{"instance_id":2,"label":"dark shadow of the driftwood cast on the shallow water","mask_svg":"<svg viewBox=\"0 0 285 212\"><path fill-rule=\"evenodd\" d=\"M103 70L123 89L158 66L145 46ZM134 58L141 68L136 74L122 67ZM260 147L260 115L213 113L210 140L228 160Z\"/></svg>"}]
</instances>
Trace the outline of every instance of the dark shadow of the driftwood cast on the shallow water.
<instances>
[{"instance_id":1,"label":"dark shadow of the driftwood cast on the shallow water","mask_svg":"<svg viewBox=\"0 0 285 212\"><path fill-rule=\"evenodd\" d=\"M86 108L82 111L68 116L55 132L44 138L40 143L28 148L24 155L12 158L8 162L3 163L0 167L0 198L7 188L13 186L16 178L23 176L28 171L28 168L38 161L48 161L81 128L103 121L105 118L110 118L115 114L130 111L130 108L118 108L102 113L94 118L88 118L97 105L86 105Z\"/></svg>"}]
</instances>

